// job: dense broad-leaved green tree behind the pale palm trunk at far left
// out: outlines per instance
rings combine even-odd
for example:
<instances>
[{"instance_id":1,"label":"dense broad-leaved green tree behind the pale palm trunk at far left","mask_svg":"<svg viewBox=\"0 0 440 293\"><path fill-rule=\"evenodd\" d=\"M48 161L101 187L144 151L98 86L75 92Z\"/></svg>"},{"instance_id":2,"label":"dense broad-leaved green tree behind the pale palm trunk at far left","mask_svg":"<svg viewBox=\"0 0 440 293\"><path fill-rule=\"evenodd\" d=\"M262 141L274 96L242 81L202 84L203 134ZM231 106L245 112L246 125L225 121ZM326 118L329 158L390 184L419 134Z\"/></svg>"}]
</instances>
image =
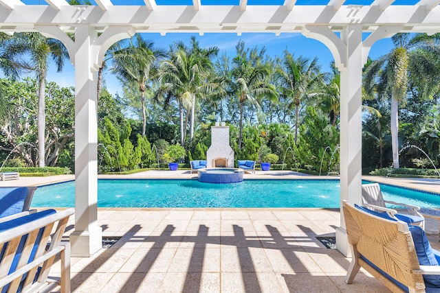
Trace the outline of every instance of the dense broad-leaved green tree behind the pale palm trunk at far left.
<instances>
[{"instance_id":1,"label":"dense broad-leaved green tree behind the pale palm trunk at far left","mask_svg":"<svg viewBox=\"0 0 440 293\"><path fill-rule=\"evenodd\" d=\"M10 159L20 157L27 166L36 166L39 161L36 148L38 88L38 83L32 78L21 82L0 79L0 95L10 109L0 123L0 150L6 154L12 152ZM58 162L58 159L61 155L74 156L70 148L74 142L74 89L48 82L46 91L46 165L72 167L71 162Z\"/></svg>"}]
</instances>

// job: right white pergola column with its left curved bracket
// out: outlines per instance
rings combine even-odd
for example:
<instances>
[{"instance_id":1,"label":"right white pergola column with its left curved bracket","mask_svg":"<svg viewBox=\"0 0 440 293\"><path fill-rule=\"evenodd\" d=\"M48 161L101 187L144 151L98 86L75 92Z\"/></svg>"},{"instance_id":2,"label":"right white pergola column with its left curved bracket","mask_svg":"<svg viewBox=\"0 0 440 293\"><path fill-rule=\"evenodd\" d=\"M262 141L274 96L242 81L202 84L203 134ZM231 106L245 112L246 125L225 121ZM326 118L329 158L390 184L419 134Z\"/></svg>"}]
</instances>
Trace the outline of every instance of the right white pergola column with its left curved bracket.
<instances>
[{"instance_id":1,"label":"right white pergola column with its left curved bracket","mask_svg":"<svg viewBox=\"0 0 440 293\"><path fill-rule=\"evenodd\" d=\"M306 25L303 34L327 45L340 70L340 199L362 201L362 25L346 25L338 38L327 26ZM342 205L341 205L342 206ZM344 215L336 247L349 254Z\"/></svg>"}]
</instances>

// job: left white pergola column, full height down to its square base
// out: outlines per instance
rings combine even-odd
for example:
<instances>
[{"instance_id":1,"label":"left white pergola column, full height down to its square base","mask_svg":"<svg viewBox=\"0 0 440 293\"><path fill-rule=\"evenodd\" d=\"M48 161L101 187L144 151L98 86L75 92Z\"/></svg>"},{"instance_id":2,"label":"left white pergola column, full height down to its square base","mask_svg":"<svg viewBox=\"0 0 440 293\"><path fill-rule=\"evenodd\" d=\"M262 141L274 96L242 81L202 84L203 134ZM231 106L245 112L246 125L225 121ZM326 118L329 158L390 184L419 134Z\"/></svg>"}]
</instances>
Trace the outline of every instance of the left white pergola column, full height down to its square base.
<instances>
[{"instance_id":1,"label":"left white pergola column, full height down to its square base","mask_svg":"<svg viewBox=\"0 0 440 293\"><path fill-rule=\"evenodd\" d=\"M98 226L98 99L93 48L96 31L78 25L75 32L75 231L72 257L89 257L102 247Z\"/></svg>"}]
</instances>

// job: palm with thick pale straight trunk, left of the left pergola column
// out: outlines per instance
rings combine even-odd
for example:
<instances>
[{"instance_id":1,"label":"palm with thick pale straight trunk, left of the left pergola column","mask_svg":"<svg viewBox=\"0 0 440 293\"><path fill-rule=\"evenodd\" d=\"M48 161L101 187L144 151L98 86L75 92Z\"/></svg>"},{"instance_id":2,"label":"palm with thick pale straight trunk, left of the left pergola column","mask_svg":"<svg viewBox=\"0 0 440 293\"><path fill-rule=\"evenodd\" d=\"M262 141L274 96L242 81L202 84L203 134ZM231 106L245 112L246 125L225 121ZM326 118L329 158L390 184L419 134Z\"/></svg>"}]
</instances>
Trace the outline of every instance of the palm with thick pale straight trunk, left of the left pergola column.
<instances>
[{"instance_id":1,"label":"palm with thick pale straight trunk, left of the left pergola column","mask_svg":"<svg viewBox=\"0 0 440 293\"><path fill-rule=\"evenodd\" d=\"M50 59L55 63L57 72L63 70L64 62L69 58L66 47L54 38L45 38L40 33L23 32L14 34L5 45L11 60L21 60L29 56L29 68L35 72L39 82L38 102L38 147L39 167L45 166L45 89L46 75Z\"/></svg>"}]
</instances>

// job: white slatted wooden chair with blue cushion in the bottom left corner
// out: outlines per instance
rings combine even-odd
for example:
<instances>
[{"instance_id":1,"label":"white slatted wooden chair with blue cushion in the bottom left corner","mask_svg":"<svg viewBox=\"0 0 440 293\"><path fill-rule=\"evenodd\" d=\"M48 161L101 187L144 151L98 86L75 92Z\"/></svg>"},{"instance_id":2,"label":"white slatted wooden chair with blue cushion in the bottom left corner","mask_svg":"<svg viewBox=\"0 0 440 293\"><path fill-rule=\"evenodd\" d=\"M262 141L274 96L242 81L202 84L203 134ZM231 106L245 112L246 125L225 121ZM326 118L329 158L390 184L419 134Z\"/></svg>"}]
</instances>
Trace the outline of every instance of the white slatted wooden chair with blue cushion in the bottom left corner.
<instances>
[{"instance_id":1,"label":"white slatted wooden chair with blue cushion in the bottom left corner","mask_svg":"<svg viewBox=\"0 0 440 293\"><path fill-rule=\"evenodd\" d=\"M61 239L73 213L49 209L0 221L1 292L50 292L58 285L70 292L70 246ZM48 274L57 255L61 279L52 279Z\"/></svg>"}]
</instances>

